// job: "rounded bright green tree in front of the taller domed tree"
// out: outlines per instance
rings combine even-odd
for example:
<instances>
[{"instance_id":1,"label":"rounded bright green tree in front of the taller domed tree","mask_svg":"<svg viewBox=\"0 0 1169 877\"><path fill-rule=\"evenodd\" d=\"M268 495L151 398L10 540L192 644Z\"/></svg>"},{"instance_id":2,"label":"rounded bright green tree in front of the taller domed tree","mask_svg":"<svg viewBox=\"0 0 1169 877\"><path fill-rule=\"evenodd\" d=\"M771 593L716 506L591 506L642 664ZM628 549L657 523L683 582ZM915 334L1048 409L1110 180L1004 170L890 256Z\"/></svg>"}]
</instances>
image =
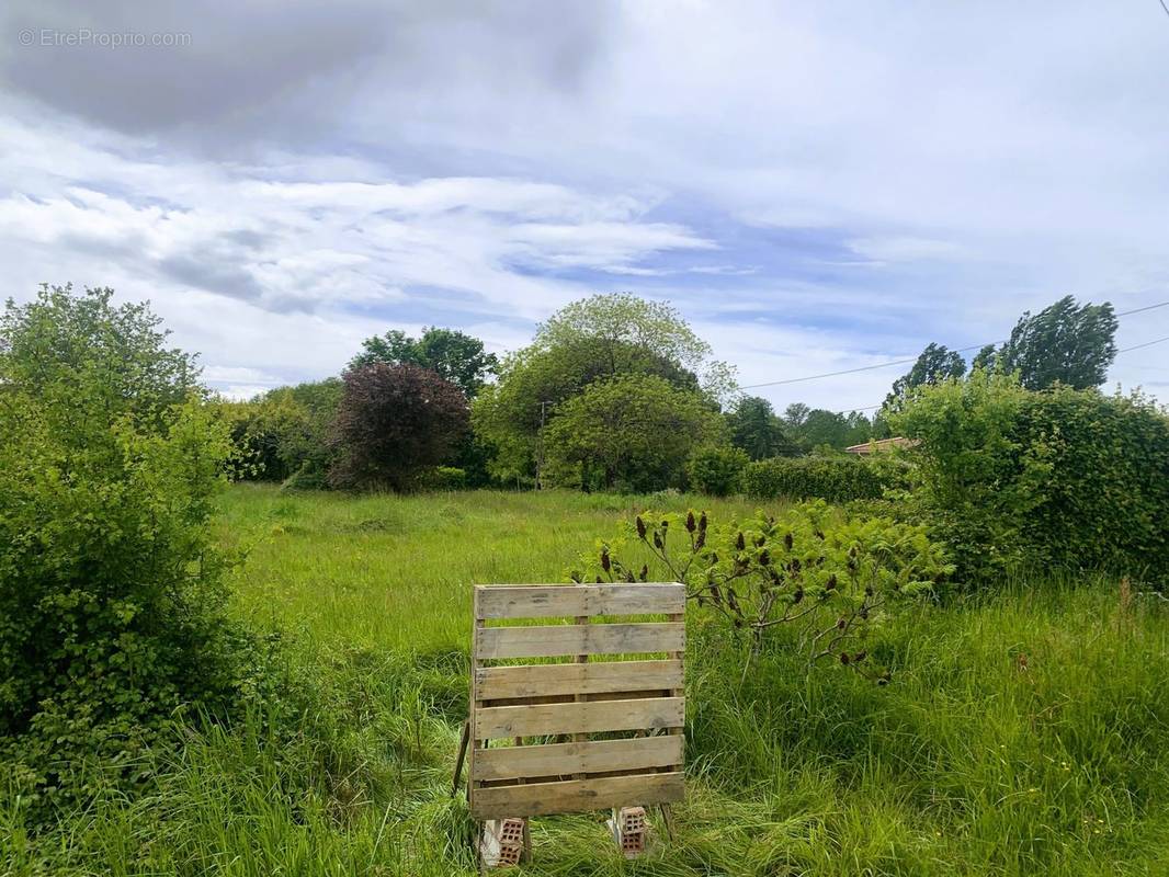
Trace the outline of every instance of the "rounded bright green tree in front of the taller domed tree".
<instances>
[{"instance_id":1,"label":"rounded bright green tree in front of the taller domed tree","mask_svg":"<svg viewBox=\"0 0 1169 877\"><path fill-rule=\"evenodd\" d=\"M545 430L548 481L618 491L680 486L694 448L724 430L699 394L663 378L597 381L567 400Z\"/></svg>"}]
</instances>

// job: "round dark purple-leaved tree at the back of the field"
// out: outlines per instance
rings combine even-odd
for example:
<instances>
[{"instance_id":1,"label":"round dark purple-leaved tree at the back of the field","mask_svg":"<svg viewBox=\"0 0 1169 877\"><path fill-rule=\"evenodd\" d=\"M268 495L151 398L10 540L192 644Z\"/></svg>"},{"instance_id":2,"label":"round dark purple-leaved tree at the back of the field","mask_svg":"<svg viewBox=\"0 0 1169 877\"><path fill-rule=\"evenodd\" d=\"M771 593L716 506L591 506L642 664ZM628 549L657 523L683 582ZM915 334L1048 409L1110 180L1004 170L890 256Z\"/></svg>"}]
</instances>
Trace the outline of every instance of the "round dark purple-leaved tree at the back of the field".
<instances>
[{"instance_id":1,"label":"round dark purple-leaved tree at the back of the field","mask_svg":"<svg viewBox=\"0 0 1169 877\"><path fill-rule=\"evenodd\" d=\"M466 431L463 392L429 368L375 362L350 368L333 423L339 488L408 490L449 458Z\"/></svg>"}]
</instances>

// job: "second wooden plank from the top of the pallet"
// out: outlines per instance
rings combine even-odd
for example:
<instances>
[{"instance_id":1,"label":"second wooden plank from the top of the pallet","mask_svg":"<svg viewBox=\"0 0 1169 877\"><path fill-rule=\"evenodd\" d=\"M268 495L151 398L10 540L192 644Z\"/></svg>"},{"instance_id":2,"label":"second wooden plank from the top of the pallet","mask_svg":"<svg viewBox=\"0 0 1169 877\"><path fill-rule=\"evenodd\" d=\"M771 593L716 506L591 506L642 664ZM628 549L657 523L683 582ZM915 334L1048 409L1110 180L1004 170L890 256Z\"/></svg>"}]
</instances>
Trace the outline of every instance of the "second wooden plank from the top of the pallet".
<instances>
[{"instance_id":1,"label":"second wooden plank from the top of the pallet","mask_svg":"<svg viewBox=\"0 0 1169 877\"><path fill-rule=\"evenodd\" d=\"M686 626L679 622L487 627L477 634L478 661L682 651L686 643Z\"/></svg>"}]
</instances>

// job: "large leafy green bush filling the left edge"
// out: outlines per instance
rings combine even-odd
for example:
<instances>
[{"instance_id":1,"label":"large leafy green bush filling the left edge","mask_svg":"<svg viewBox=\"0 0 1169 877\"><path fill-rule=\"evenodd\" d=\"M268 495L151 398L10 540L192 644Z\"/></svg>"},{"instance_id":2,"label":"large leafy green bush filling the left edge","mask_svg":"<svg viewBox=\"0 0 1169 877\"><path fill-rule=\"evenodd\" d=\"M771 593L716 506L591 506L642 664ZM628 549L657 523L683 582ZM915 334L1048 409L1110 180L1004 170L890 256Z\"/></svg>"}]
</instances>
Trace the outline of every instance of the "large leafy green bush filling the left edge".
<instances>
[{"instance_id":1,"label":"large leafy green bush filling the left edge","mask_svg":"<svg viewBox=\"0 0 1169 877\"><path fill-rule=\"evenodd\" d=\"M92 790L181 706L233 697L212 540L230 453L145 305L42 289L0 318L0 773L40 813Z\"/></svg>"}]
</instances>

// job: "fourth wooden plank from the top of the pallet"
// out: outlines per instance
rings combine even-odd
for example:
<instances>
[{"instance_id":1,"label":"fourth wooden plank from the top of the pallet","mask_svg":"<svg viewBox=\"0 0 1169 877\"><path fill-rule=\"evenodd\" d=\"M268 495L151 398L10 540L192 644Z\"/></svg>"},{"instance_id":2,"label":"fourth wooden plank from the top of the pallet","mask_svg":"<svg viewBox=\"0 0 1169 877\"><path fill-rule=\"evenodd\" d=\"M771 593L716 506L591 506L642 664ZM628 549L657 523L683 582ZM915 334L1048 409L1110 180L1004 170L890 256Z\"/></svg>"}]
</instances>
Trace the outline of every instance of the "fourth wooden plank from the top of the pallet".
<instances>
[{"instance_id":1,"label":"fourth wooden plank from the top of the pallet","mask_svg":"<svg viewBox=\"0 0 1169 877\"><path fill-rule=\"evenodd\" d=\"M652 697L637 700L524 706L485 706L475 711L475 738L535 737L542 734L595 734L606 731L643 731L682 727L685 698Z\"/></svg>"}]
</instances>

